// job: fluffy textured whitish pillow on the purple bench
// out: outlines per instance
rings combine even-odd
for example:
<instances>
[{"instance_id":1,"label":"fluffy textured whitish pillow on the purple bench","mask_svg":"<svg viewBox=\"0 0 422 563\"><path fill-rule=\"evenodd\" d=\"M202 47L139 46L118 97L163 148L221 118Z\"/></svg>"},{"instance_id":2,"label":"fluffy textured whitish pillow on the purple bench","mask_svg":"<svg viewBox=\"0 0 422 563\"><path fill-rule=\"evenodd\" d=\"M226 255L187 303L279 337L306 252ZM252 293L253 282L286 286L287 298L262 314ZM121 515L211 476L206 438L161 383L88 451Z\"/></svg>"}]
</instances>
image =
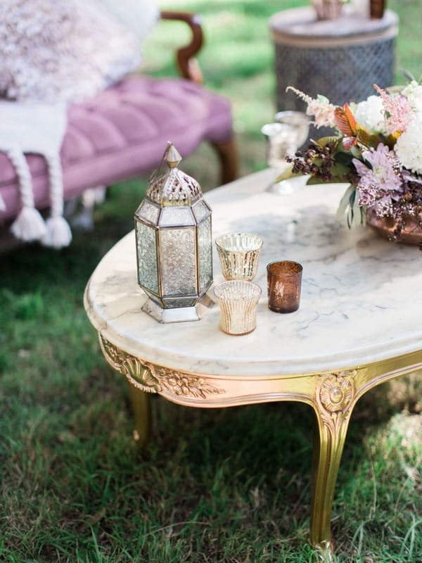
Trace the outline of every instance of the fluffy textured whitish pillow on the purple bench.
<instances>
[{"instance_id":1,"label":"fluffy textured whitish pillow on the purple bench","mask_svg":"<svg viewBox=\"0 0 422 563\"><path fill-rule=\"evenodd\" d=\"M0 4L0 89L8 99L83 101L139 66L139 37L112 15L111 0ZM148 22L140 30L157 17L151 0L144 4Z\"/></svg>"}]
</instances>

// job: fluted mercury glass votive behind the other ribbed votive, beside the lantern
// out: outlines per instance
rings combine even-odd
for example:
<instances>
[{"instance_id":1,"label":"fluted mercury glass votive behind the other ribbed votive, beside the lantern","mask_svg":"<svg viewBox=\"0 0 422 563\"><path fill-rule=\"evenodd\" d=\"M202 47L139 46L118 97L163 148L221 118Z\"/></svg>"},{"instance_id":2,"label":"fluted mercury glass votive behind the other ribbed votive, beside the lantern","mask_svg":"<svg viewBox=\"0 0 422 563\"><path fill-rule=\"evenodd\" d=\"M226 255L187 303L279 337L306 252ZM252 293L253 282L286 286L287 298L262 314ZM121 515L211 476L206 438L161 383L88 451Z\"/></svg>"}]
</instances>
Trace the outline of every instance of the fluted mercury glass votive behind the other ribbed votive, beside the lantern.
<instances>
[{"instance_id":1,"label":"fluted mercury glass votive behind the other ribbed votive, beside the lantern","mask_svg":"<svg viewBox=\"0 0 422 563\"><path fill-rule=\"evenodd\" d=\"M252 233L226 233L215 241L225 279L254 279L262 239Z\"/></svg>"}]
</instances>

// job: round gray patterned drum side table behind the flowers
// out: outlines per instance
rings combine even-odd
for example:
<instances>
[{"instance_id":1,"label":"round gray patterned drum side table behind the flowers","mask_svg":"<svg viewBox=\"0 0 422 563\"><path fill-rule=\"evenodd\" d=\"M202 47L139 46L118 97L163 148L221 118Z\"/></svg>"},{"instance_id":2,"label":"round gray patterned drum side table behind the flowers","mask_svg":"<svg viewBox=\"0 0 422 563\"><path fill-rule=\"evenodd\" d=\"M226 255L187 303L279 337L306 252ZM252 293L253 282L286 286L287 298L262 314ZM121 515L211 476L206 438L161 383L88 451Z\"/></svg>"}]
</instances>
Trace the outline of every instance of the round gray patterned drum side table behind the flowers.
<instances>
[{"instance_id":1,"label":"round gray patterned drum side table behind the flowers","mask_svg":"<svg viewBox=\"0 0 422 563\"><path fill-rule=\"evenodd\" d=\"M304 110L288 86L309 96L323 94L335 105L375 94L373 84L393 83L399 18L387 10L370 20L351 11L335 20L316 20L311 7L276 13L269 20L276 51L278 110Z\"/></svg>"}]
</instances>

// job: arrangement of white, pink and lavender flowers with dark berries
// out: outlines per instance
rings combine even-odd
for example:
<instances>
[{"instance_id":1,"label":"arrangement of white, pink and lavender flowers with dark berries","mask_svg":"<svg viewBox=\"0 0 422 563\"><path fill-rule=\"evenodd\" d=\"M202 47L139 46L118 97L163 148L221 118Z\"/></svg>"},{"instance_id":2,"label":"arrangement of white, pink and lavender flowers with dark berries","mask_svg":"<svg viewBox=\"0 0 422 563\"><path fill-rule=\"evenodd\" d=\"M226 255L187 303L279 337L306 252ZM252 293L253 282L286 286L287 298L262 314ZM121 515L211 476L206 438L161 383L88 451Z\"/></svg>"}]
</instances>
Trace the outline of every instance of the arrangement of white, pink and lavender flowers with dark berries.
<instances>
[{"instance_id":1,"label":"arrangement of white, pink and lavender flowers with dark berries","mask_svg":"<svg viewBox=\"0 0 422 563\"><path fill-rule=\"evenodd\" d=\"M347 212L350 226L353 220L364 223L371 208L378 217L392 217L391 238L399 240L409 222L422 229L422 85L374 88L378 95L341 108L289 87L307 103L317 128L335 127L337 133L288 157L291 167L280 179L305 174L308 184L350 183L338 215Z\"/></svg>"}]
</instances>

